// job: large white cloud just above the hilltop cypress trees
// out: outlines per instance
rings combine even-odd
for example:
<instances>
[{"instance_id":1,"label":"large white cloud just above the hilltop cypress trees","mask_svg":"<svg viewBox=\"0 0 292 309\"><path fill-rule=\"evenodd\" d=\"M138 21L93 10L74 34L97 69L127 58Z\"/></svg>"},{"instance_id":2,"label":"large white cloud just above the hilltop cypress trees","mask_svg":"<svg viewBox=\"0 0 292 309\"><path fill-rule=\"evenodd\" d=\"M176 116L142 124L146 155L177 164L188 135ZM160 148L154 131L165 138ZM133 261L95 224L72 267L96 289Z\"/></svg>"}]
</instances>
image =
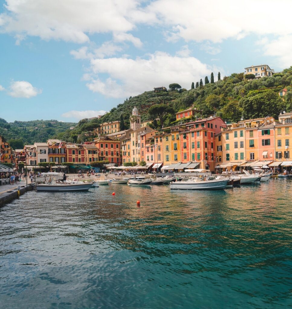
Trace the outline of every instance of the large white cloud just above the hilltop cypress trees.
<instances>
[{"instance_id":1,"label":"large white cloud just above the hilltop cypress trees","mask_svg":"<svg viewBox=\"0 0 292 309\"><path fill-rule=\"evenodd\" d=\"M209 67L195 57L171 56L168 53L156 52L147 59L137 57L92 59L90 62L92 78L86 84L93 92L114 98L137 95L145 90L152 90L157 85L168 87L170 83L179 83L190 89L191 83L199 81L211 72L223 70L215 66ZM105 80L100 75L109 77Z\"/></svg>"}]
</instances>

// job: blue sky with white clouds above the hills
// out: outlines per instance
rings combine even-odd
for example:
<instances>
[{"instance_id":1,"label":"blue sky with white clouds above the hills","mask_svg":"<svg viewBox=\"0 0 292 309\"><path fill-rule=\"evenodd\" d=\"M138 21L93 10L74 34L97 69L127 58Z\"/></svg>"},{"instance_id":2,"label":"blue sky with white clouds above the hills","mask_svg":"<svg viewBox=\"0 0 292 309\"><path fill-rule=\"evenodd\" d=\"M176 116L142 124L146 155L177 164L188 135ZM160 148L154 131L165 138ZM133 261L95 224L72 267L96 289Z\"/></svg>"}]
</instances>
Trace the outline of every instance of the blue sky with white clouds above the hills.
<instances>
[{"instance_id":1,"label":"blue sky with white clouds above the hills","mask_svg":"<svg viewBox=\"0 0 292 309\"><path fill-rule=\"evenodd\" d=\"M281 8L292 1L0 0L0 117L77 122L211 72L281 71L292 65Z\"/></svg>"}]
</instances>

